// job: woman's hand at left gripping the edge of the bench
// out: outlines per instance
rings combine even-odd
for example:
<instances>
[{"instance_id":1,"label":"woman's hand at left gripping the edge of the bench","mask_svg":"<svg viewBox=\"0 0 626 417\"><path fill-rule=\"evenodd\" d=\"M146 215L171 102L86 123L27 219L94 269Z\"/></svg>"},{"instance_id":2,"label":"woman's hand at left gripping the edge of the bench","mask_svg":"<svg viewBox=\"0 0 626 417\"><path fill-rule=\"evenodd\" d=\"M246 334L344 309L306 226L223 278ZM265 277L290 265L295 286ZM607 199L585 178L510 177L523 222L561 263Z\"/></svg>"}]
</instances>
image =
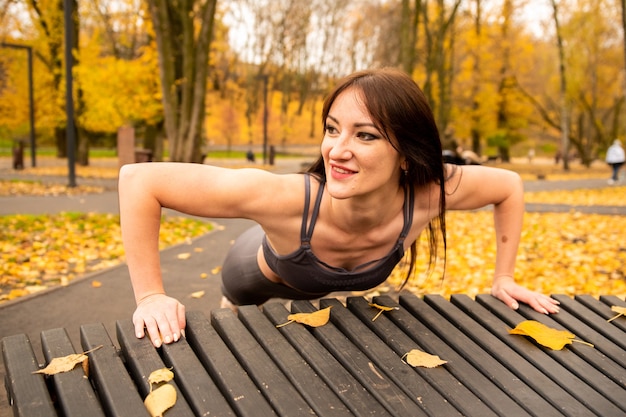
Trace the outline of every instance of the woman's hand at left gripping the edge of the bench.
<instances>
[{"instance_id":1,"label":"woman's hand at left gripping the edge of the bench","mask_svg":"<svg viewBox=\"0 0 626 417\"><path fill-rule=\"evenodd\" d=\"M185 306L165 294L152 294L137 303L133 314L135 335L148 337L154 347L177 342L185 334Z\"/></svg>"}]
</instances>

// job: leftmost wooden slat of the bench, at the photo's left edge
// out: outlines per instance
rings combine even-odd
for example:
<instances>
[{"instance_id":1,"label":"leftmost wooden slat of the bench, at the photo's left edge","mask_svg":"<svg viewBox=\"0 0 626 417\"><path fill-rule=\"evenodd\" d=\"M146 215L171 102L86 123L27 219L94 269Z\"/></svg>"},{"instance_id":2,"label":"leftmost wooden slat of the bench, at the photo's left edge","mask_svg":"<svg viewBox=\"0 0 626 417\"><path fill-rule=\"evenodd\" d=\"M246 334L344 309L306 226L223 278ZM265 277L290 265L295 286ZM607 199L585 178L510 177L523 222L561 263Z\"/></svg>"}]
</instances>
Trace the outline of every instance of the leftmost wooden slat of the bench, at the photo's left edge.
<instances>
[{"instance_id":1,"label":"leftmost wooden slat of the bench, at the photo's left edge","mask_svg":"<svg viewBox=\"0 0 626 417\"><path fill-rule=\"evenodd\" d=\"M25 334L2 338L2 358L9 405L15 417L52 417L52 399L39 370L35 352Z\"/></svg>"}]
</instances>

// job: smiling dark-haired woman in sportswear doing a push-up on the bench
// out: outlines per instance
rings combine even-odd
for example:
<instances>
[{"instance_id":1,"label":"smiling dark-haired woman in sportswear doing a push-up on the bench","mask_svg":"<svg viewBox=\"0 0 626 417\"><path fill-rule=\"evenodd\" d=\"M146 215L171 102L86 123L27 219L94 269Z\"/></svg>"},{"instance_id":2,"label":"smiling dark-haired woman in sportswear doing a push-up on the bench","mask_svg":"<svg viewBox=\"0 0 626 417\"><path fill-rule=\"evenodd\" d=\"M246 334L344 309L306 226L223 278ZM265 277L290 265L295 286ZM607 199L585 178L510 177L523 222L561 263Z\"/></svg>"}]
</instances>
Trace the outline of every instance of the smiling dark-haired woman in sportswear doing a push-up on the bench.
<instances>
[{"instance_id":1,"label":"smiling dark-haired woman in sportswear doing a push-up on the bench","mask_svg":"<svg viewBox=\"0 0 626 417\"><path fill-rule=\"evenodd\" d=\"M165 295L158 254L161 208L210 218L247 218L258 228L235 243L222 270L225 301L262 304L272 296L313 299L372 288L404 251L437 230L444 211L494 205L497 256L492 294L548 314L557 302L514 282L524 211L513 172L442 162L424 94L393 69L342 80L326 99L321 156L307 174L276 175L208 165L152 163L120 171L122 235L137 309L137 337L176 341L184 306ZM194 190L189 193L188 190ZM439 227L438 227L439 226ZM444 246L445 247L445 246Z\"/></svg>"}]
</instances>

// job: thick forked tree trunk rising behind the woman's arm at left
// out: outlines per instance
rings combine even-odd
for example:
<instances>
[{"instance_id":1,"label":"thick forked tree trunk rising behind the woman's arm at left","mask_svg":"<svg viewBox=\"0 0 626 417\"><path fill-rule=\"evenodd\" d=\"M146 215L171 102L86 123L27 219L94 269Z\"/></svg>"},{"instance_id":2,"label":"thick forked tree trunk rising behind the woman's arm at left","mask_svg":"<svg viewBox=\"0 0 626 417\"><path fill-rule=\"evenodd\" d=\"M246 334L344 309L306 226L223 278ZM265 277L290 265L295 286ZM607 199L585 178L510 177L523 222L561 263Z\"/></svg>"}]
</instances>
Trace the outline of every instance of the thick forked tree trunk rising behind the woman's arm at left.
<instances>
[{"instance_id":1,"label":"thick forked tree trunk rising behind the woman's arm at left","mask_svg":"<svg viewBox=\"0 0 626 417\"><path fill-rule=\"evenodd\" d=\"M172 161L201 162L209 47L217 0L148 0Z\"/></svg>"}]
</instances>

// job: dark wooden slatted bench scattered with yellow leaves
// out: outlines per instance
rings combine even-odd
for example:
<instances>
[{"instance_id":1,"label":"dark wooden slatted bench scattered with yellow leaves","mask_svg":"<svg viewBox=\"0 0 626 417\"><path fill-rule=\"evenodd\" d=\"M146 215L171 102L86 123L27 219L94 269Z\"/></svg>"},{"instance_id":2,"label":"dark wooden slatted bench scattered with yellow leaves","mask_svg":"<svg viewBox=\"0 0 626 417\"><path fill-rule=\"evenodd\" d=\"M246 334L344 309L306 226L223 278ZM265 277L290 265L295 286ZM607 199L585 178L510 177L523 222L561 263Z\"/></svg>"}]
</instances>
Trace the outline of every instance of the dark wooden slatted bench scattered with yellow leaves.
<instances>
[{"instance_id":1,"label":"dark wooden slatted bench scattered with yellow leaves","mask_svg":"<svg viewBox=\"0 0 626 417\"><path fill-rule=\"evenodd\" d=\"M165 416L622 416L626 415L626 318L607 320L615 296L555 296L561 312L512 311L488 295L423 299L402 295L374 302L324 299L331 322L310 328L287 322L282 304L189 312L186 338L160 349L117 322L116 339L101 324L80 328L81 348L64 329L41 333L46 362L89 353L89 377L73 371L44 377L30 341L2 339L6 389L15 416L147 416L148 375L172 368L177 391ZM292 312L312 312L306 301ZM570 330L563 350L508 333L524 319ZM412 367L402 359L420 349L448 361Z\"/></svg>"}]
</instances>

